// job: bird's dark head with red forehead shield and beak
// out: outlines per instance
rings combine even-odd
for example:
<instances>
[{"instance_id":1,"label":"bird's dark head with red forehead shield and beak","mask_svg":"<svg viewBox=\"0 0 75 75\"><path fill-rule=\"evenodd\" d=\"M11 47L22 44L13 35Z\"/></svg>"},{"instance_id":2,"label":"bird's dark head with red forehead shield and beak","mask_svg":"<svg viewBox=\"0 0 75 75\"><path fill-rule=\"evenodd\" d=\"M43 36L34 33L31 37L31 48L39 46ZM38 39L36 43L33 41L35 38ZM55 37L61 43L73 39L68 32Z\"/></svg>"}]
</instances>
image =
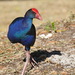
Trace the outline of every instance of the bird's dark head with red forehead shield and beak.
<instances>
[{"instance_id":1,"label":"bird's dark head with red forehead shield and beak","mask_svg":"<svg viewBox=\"0 0 75 75\"><path fill-rule=\"evenodd\" d=\"M26 14L25 14L26 17L29 17L29 18L37 18L39 20L42 20L42 17L40 16L39 12L37 9L35 8L31 8L29 9Z\"/></svg>"}]
</instances>

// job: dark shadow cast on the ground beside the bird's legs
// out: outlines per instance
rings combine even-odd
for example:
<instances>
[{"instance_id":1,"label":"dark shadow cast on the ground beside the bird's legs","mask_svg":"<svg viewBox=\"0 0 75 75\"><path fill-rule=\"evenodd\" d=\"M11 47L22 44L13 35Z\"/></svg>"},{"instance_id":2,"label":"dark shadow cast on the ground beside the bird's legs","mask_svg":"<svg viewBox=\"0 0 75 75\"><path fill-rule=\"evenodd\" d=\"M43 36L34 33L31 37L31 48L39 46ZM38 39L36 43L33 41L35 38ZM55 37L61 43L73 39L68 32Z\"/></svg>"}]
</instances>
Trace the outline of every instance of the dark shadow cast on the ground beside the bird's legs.
<instances>
[{"instance_id":1,"label":"dark shadow cast on the ground beside the bird's legs","mask_svg":"<svg viewBox=\"0 0 75 75\"><path fill-rule=\"evenodd\" d=\"M48 52L47 50L37 50L31 53L31 56L35 59L35 61L41 62L44 61L47 57L50 57L52 55L62 55L60 51L54 50L51 52ZM23 60L26 61L26 58Z\"/></svg>"}]
</instances>

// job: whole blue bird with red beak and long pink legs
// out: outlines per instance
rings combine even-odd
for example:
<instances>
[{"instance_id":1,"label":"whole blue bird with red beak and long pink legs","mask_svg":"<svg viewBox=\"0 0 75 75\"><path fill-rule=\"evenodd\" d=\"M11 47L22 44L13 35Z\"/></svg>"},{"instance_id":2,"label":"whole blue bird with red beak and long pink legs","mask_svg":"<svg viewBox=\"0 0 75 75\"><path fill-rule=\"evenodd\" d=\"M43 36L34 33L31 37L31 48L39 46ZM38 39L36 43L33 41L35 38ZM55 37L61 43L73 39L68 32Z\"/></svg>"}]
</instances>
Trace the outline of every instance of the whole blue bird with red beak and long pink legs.
<instances>
[{"instance_id":1,"label":"whole blue bird with red beak and long pink legs","mask_svg":"<svg viewBox=\"0 0 75 75\"><path fill-rule=\"evenodd\" d=\"M39 11L36 8L30 8L24 15L24 17L15 18L8 28L7 37L11 43L20 43L25 46L26 62L24 64L21 75L26 72L26 67L30 63L33 67L38 63L30 55L31 46L34 45L36 40L36 28L33 24L33 19L42 20Z\"/></svg>"}]
</instances>

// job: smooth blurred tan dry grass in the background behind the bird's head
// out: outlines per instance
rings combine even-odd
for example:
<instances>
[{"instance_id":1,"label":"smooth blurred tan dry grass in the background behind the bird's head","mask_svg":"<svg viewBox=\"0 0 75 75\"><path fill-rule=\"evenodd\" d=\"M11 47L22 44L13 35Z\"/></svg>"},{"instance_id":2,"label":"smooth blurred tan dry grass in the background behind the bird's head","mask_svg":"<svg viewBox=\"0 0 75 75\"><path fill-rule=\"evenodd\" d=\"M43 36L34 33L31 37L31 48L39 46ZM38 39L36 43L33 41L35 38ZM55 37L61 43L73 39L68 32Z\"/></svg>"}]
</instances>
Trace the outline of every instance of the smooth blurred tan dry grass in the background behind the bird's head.
<instances>
[{"instance_id":1,"label":"smooth blurred tan dry grass in the background behind the bird's head","mask_svg":"<svg viewBox=\"0 0 75 75\"><path fill-rule=\"evenodd\" d=\"M35 7L43 17L43 21L35 20L36 26L48 20L61 20L75 13L75 0L36 0L36 1L1 1L0 2L0 31L7 31L11 21Z\"/></svg>"}]
</instances>

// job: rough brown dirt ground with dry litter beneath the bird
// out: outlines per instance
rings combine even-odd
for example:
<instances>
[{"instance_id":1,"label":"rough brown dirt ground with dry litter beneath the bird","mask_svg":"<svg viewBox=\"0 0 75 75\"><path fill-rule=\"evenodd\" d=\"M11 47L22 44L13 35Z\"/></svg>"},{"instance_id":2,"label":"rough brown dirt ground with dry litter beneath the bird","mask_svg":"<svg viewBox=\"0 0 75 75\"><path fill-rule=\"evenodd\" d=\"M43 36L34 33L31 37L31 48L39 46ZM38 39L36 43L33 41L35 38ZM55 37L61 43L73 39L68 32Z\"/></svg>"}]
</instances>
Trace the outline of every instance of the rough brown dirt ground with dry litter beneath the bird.
<instances>
[{"instance_id":1,"label":"rough brown dirt ground with dry litter beneath the bird","mask_svg":"<svg viewBox=\"0 0 75 75\"><path fill-rule=\"evenodd\" d=\"M75 75L75 19L57 23L57 30L48 32L45 25L37 28L37 39L31 55L39 67L27 67L25 75ZM40 35L52 34L44 38ZM0 75L20 75L25 50L21 44L12 44L6 32L0 33Z\"/></svg>"}]
</instances>

